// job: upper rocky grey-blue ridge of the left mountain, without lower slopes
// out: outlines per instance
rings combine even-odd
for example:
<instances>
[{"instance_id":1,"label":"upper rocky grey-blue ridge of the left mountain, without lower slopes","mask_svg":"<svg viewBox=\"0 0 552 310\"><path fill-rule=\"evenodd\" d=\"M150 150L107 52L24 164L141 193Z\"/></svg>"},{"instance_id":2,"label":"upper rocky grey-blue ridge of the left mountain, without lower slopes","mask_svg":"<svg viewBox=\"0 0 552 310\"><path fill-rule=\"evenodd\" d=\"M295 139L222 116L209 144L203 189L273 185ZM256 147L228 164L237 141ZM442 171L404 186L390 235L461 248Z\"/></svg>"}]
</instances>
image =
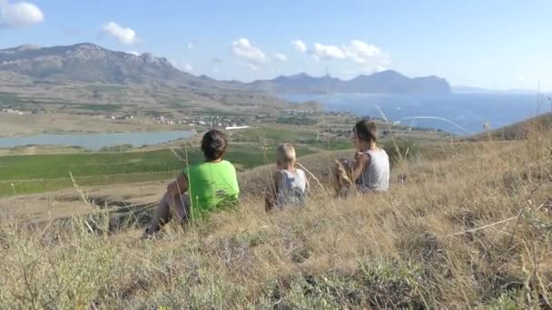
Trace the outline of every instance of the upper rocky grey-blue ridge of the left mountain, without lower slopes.
<instances>
[{"instance_id":1,"label":"upper rocky grey-blue ridge of the left mountain, without lower slopes","mask_svg":"<svg viewBox=\"0 0 552 310\"><path fill-rule=\"evenodd\" d=\"M182 73L166 58L157 58L151 53L114 52L95 44L44 48L23 45L0 50L0 71L51 82L202 82Z\"/></svg>"}]
</instances>

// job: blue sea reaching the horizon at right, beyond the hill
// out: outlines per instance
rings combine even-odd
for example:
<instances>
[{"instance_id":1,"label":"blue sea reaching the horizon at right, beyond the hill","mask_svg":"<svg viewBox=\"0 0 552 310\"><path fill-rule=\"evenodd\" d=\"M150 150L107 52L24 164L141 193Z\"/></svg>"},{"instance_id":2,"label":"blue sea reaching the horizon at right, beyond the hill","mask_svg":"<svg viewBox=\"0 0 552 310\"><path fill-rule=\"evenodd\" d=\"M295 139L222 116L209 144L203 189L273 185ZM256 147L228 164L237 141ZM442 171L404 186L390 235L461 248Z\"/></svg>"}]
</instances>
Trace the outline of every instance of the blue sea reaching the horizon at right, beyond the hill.
<instances>
[{"instance_id":1,"label":"blue sea reaching the horizon at right, beyond the hill","mask_svg":"<svg viewBox=\"0 0 552 310\"><path fill-rule=\"evenodd\" d=\"M537 111L550 111L544 96L537 101L537 94L480 94L452 93L448 95L394 95L369 93L338 93L324 95L283 96L291 102L314 100L323 104L325 111L348 111L360 116L380 117L383 111L389 121L400 121L409 126L430 127L456 134L483 131L488 122L491 128L499 128L536 116ZM537 104L538 102L538 104ZM407 119L410 117L438 117L437 119Z\"/></svg>"}]
</instances>

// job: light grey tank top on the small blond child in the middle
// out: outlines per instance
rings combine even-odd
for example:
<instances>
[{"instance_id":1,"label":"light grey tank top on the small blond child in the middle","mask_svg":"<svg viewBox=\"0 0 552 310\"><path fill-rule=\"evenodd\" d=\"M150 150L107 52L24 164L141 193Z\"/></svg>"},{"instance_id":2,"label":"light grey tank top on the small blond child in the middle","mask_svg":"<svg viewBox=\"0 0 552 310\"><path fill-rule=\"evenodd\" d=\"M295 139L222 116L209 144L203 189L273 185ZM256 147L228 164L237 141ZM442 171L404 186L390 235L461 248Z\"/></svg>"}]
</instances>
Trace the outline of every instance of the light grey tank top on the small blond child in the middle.
<instances>
[{"instance_id":1,"label":"light grey tank top on the small blond child in the middle","mask_svg":"<svg viewBox=\"0 0 552 310\"><path fill-rule=\"evenodd\" d=\"M279 170L276 172L276 181L278 182L277 207L304 205L307 188L305 171L301 169L297 169L295 172Z\"/></svg>"}]
</instances>

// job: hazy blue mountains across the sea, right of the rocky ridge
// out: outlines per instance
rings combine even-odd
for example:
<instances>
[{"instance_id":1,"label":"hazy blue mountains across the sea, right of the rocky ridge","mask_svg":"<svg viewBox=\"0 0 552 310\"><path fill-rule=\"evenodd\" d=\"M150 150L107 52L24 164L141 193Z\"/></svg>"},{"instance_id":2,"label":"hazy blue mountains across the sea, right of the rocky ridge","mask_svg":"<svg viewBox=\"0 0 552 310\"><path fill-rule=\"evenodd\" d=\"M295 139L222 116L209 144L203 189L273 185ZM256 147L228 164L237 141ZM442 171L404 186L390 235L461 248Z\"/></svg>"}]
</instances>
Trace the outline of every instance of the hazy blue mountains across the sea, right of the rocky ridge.
<instances>
[{"instance_id":1,"label":"hazy blue mountains across the sea, right of the rocky ridge","mask_svg":"<svg viewBox=\"0 0 552 310\"><path fill-rule=\"evenodd\" d=\"M425 93L447 94L450 85L445 79L436 76L409 78L395 71L384 71L370 75L360 75L349 81L325 75L312 77L306 73L279 76L273 80L255 81L248 87L270 93Z\"/></svg>"}]
</instances>

